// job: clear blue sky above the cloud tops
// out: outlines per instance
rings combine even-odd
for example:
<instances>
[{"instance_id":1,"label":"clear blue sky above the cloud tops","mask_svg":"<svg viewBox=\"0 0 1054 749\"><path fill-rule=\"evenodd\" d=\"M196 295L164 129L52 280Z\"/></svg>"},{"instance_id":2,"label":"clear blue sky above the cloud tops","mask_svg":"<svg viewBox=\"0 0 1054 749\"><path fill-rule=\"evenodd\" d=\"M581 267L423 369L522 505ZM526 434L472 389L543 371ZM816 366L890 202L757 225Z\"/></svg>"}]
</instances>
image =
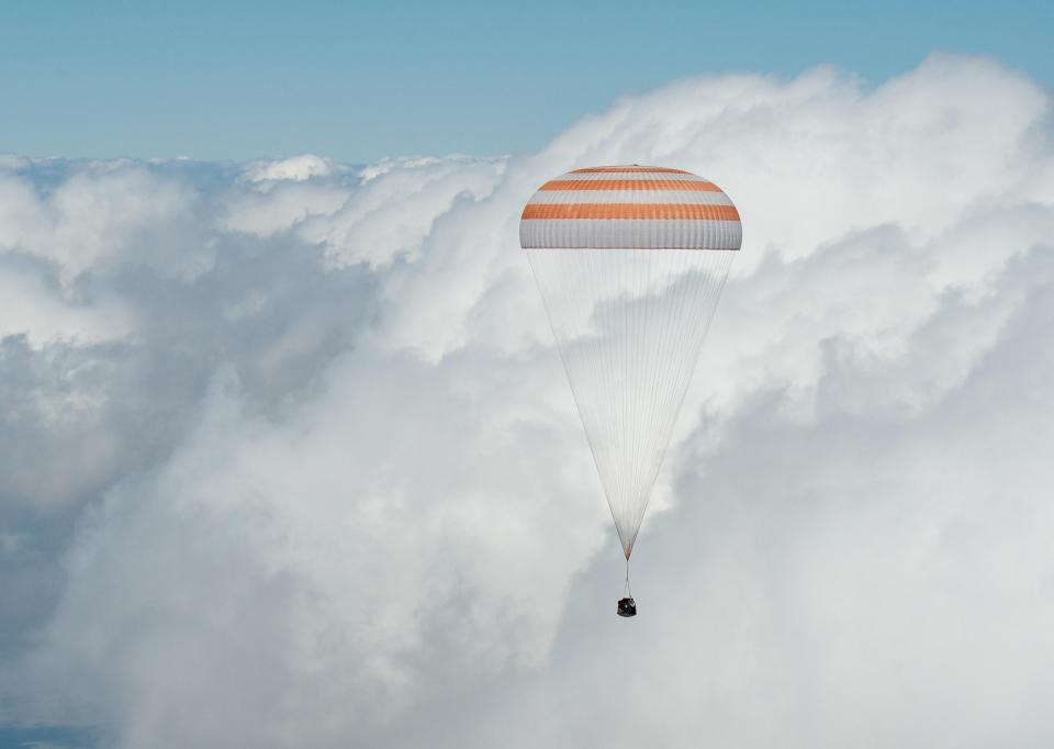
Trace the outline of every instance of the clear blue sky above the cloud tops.
<instances>
[{"instance_id":1,"label":"clear blue sky above the cloud tops","mask_svg":"<svg viewBox=\"0 0 1054 749\"><path fill-rule=\"evenodd\" d=\"M516 153L695 74L831 63L878 83L952 51L1050 86L1051 27L1032 1L4 3L0 152Z\"/></svg>"}]
</instances>

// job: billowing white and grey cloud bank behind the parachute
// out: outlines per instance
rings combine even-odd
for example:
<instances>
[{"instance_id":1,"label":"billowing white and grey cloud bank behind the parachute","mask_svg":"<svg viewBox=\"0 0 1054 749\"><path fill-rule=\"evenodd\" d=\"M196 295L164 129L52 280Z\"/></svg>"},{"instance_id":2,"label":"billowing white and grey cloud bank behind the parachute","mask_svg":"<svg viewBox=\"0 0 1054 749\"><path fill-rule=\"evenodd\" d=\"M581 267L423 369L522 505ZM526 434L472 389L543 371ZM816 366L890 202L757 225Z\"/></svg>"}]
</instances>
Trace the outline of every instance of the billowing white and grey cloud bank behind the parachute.
<instances>
[{"instance_id":1,"label":"billowing white and grey cloud bank behind the parachute","mask_svg":"<svg viewBox=\"0 0 1054 749\"><path fill-rule=\"evenodd\" d=\"M1051 97L681 81L542 153L0 161L8 719L106 746L1049 746ZM619 555L519 206L715 179L745 242ZM10 541L10 543L8 543Z\"/></svg>"}]
</instances>

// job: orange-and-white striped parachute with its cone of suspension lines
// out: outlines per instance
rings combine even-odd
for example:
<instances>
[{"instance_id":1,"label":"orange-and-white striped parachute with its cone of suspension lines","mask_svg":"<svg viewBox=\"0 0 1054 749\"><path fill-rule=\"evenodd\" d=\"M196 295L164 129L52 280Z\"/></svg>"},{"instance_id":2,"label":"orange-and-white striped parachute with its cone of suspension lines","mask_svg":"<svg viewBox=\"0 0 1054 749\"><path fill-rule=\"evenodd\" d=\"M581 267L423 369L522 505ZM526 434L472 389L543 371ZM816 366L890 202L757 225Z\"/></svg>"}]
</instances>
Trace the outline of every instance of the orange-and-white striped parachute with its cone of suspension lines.
<instances>
[{"instance_id":1,"label":"orange-and-white striped parachute with its cone of suspension lines","mask_svg":"<svg viewBox=\"0 0 1054 749\"><path fill-rule=\"evenodd\" d=\"M542 185L519 241L628 561L742 241L739 213L687 171L593 167Z\"/></svg>"}]
</instances>

